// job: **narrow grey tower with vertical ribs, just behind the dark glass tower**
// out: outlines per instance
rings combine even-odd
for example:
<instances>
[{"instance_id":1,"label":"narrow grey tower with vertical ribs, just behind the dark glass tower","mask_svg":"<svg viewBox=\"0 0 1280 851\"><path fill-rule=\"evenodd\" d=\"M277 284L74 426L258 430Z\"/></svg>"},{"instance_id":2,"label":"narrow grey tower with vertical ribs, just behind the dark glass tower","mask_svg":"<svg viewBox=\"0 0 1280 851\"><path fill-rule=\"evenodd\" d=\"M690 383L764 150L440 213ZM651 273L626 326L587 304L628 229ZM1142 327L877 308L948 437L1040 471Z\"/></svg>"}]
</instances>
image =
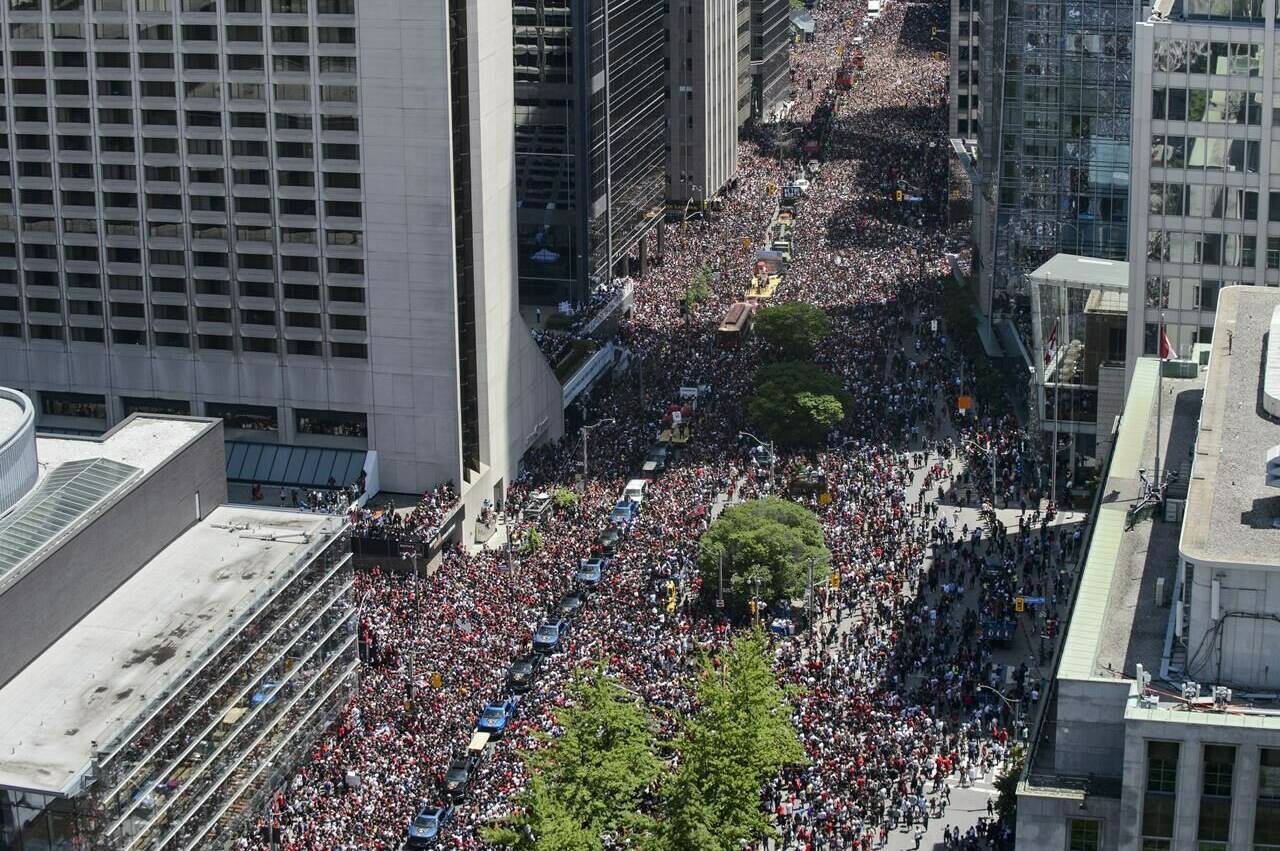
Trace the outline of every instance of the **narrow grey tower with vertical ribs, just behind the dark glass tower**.
<instances>
[{"instance_id":1,"label":"narrow grey tower with vertical ribs, just behind the dark glass tower","mask_svg":"<svg viewBox=\"0 0 1280 851\"><path fill-rule=\"evenodd\" d=\"M737 0L694 0L667 15L667 200L700 202L737 174Z\"/></svg>"}]
</instances>

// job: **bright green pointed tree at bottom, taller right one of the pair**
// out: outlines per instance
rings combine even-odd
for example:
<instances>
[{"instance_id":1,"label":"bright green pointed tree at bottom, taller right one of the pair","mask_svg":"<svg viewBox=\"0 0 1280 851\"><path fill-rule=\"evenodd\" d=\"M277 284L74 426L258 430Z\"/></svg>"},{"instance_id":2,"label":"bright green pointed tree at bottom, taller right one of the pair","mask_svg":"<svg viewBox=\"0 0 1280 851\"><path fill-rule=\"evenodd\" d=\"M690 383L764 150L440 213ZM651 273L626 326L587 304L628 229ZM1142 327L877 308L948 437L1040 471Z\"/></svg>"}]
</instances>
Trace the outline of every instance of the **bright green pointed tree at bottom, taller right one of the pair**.
<instances>
[{"instance_id":1,"label":"bright green pointed tree at bottom, taller right one of the pair","mask_svg":"<svg viewBox=\"0 0 1280 851\"><path fill-rule=\"evenodd\" d=\"M659 847L737 851L776 836L760 784L805 755L762 631L735 641L718 665L704 660L698 700L663 797Z\"/></svg>"}]
</instances>

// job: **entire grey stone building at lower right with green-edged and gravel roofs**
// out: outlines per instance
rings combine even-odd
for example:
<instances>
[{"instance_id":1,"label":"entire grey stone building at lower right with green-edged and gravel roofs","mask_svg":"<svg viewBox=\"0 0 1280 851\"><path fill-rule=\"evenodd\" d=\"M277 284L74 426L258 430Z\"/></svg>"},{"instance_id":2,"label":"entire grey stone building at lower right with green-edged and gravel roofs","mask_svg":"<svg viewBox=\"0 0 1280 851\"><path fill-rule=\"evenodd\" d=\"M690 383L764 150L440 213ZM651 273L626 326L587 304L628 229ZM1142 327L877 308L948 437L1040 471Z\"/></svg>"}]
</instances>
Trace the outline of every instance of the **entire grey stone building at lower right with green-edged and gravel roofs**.
<instances>
[{"instance_id":1,"label":"entire grey stone building at lower right with green-edged and gravel roofs","mask_svg":"<svg viewBox=\"0 0 1280 851\"><path fill-rule=\"evenodd\" d=\"M1018 787L1019 848L1280 842L1280 425L1257 404L1280 293L1224 289L1216 321L1207 370L1133 370Z\"/></svg>"}]
</instances>

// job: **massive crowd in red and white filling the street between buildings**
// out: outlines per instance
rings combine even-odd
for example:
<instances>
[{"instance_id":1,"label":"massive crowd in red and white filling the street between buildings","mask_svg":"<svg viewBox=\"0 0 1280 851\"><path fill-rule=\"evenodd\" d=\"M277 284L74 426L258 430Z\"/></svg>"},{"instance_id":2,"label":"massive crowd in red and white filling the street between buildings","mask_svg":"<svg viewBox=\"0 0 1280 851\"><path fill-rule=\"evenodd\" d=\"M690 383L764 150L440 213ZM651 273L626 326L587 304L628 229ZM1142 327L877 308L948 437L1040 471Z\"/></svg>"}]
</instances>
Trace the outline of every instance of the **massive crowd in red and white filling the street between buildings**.
<instances>
[{"instance_id":1,"label":"massive crowd in red and white filling the street between buildings","mask_svg":"<svg viewBox=\"0 0 1280 851\"><path fill-rule=\"evenodd\" d=\"M774 639L780 677L805 686L795 692L794 720L812 764L763 790L762 806L787 848L869 850L890 831L946 822L951 790L989 778L1021 735L1036 678L1025 664L997 665L986 631L1009 619L1014 594L1036 590L1047 609L1056 605L1079 541L1039 513L1036 463L1016 424L991 411L957 420L948 404L965 369L933 320L954 285L943 256L959 241L945 225L945 67L929 58L928 44L932 27L945 27L945 4L893 0L874 26L860 23L859 0L818 0L814 13L814 41L792 52L788 120L810 134L815 116L829 120L777 297L828 310L835 333L818 357L855 399L831 447L805 459L833 498L800 497L822 518L844 581L824 590L817 623ZM855 37L867 70L842 92L833 76ZM442 847L481 847L477 827L509 811L525 782L520 752L538 746L536 733L554 732L552 713L576 665L605 660L662 718L694 709L694 662L733 627L696 594L668 613L660 589L692 566L717 497L751 498L781 484L750 463L737 439L759 343L721 351L712 334L742 296L777 187L800 168L790 156L780 165L767 138L741 146L723 209L671 228L660 265L636 283L620 343L644 372L646 393L641 402L630 380L616 379L584 402L585 421L613 420L591 433L584 498L547 518L541 549L509 571L498 552L449 550L430 577L358 577L358 694L241 847L398 848L416 809L438 800L449 758L466 745L484 703L502 694L507 663L570 590L572 567L596 549L608 507L635 475L676 388L709 385L690 444L650 482L599 593L479 768ZM897 201L901 187L922 200ZM703 264L714 270L712 297L686 316L678 301ZM996 493L987 456L974 449L988 438ZM568 438L527 458L524 479L508 488L508 511L568 481L580 457L581 444ZM778 467L791 468L790 461ZM430 505L403 522L431 529L452 499L425 500ZM986 531L959 521L960 505L997 499L1027 503L1020 534L989 513ZM366 530L402 522L385 512L356 521ZM969 850L1007 847L1007 838L1006 825L986 822L948 828L946 841Z\"/></svg>"}]
</instances>

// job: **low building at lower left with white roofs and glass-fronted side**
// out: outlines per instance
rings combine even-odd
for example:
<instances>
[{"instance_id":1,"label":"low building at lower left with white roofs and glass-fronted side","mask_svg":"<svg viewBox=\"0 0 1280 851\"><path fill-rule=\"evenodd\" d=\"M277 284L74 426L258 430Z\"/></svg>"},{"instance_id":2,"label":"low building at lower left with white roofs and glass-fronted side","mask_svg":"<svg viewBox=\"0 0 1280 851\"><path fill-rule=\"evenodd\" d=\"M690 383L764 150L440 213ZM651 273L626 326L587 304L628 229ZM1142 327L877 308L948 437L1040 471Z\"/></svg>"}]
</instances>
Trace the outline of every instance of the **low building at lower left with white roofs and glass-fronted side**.
<instances>
[{"instance_id":1,"label":"low building at lower left with white roofs and glass-fronted side","mask_svg":"<svg viewBox=\"0 0 1280 851\"><path fill-rule=\"evenodd\" d=\"M220 507L223 424L41 435L0 513L0 847L224 848L355 687L343 517Z\"/></svg>"}]
</instances>

